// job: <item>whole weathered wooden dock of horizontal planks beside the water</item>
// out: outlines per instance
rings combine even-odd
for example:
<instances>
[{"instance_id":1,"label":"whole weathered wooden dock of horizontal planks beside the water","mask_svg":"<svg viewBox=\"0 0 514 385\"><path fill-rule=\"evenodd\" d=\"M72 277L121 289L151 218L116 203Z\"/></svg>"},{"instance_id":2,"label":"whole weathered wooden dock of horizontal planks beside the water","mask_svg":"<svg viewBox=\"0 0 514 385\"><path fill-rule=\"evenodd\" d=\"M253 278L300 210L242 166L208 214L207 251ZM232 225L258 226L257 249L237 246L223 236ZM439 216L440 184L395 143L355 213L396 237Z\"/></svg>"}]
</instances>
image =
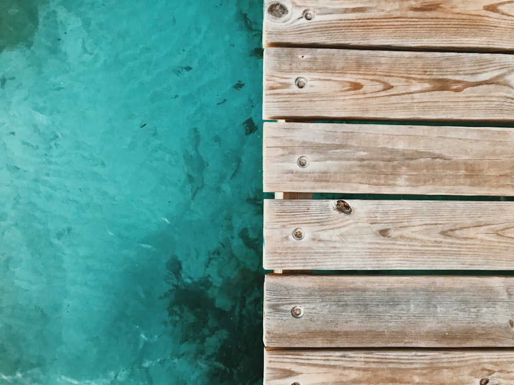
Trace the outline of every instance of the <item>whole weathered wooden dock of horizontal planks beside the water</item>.
<instances>
[{"instance_id":1,"label":"whole weathered wooden dock of horizontal planks beside the water","mask_svg":"<svg viewBox=\"0 0 514 385\"><path fill-rule=\"evenodd\" d=\"M514 1L265 0L263 31L264 383L514 384L514 202L476 198L514 195Z\"/></svg>"}]
</instances>

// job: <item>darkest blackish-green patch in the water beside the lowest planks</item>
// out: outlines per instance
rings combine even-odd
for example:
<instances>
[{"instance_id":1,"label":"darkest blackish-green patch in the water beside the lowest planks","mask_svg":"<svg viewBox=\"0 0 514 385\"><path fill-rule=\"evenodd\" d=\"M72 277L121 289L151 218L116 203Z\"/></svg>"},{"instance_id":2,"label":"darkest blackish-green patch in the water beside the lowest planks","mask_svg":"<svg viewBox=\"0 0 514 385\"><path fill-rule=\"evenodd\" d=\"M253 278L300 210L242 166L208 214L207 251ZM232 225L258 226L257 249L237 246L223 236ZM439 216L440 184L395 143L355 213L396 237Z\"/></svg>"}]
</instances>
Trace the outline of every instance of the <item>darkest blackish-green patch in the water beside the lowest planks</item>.
<instances>
[{"instance_id":1,"label":"darkest blackish-green patch in the water beside the lowest planks","mask_svg":"<svg viewBox=\"0 0 514 385\"><path fill-rule=\"evenodd\" d=\"M233 256L223 245L217 252ZM198 347L197 354L212 363L208 376L215 383L256 383L262 378L262 274L243 268L224 282L222 291L231 304L222 308L209 294L213 286L209 277L185 282L176 255L170 257L167 269L170 290L162 298L169 300L170 325L184 326L180 343ZM212 336L219 337L215 348L206 348Z\"/></svg>"}]
</instances>

